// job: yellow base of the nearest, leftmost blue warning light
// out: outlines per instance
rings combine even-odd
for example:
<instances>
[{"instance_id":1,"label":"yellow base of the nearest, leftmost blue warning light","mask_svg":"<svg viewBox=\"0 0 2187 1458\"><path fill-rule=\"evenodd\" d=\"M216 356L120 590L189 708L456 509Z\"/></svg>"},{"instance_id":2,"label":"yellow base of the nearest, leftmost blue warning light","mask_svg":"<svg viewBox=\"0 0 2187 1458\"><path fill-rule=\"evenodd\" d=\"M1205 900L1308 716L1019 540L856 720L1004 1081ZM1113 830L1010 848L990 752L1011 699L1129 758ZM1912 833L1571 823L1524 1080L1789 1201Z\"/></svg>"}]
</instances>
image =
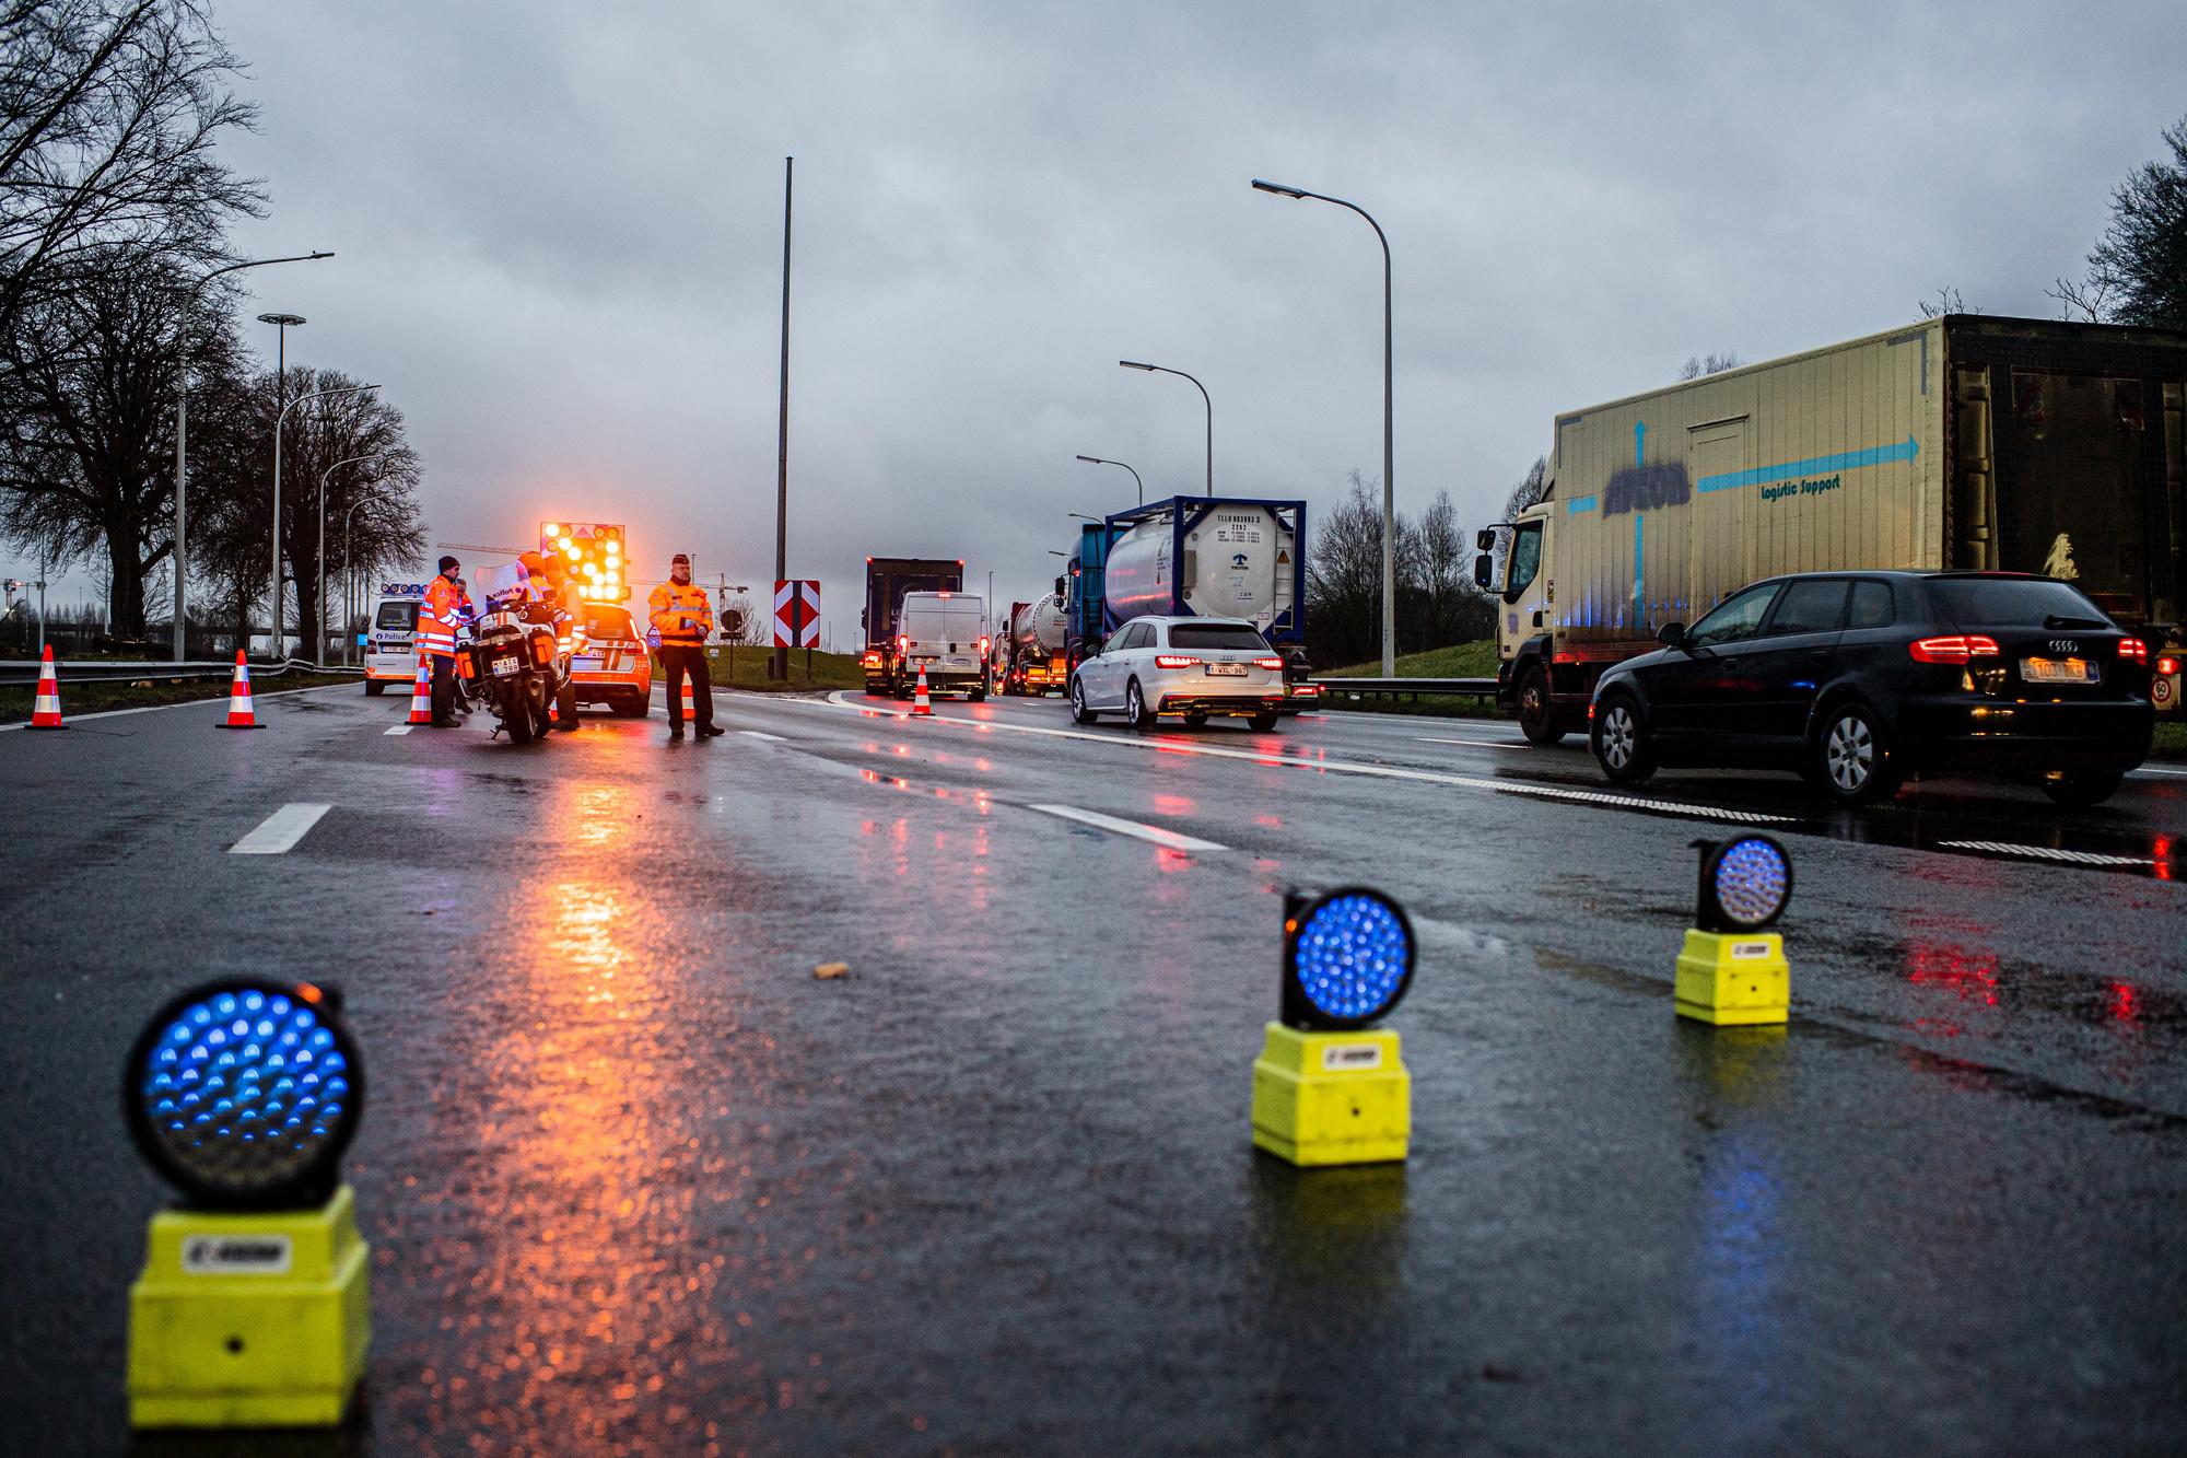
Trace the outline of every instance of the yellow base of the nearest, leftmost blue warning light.
<instances>
[{"instance_id":1,"label":"yellow base of the nearest, leftmost blue warning light","mask_svg":"<svg viewBox=\"0 0 2187 1458\"><path fill-rule=\"evenodd\" d=\"M131 1427L332 1427L372 1340L348 1184L315 1211L151 1217L129 1287Z\"/></svg>"}]
</instances>

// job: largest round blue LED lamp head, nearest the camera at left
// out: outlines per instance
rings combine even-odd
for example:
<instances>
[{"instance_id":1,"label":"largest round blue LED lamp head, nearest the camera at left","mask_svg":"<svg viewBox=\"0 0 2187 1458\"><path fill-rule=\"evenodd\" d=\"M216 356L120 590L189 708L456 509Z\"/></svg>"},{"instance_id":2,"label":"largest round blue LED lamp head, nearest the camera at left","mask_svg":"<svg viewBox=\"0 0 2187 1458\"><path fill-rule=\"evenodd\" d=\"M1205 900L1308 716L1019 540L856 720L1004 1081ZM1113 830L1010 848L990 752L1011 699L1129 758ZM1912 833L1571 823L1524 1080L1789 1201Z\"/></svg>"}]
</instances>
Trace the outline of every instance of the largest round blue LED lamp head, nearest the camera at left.
<instances>
[{"instance_id":1,"label":"largest round blue LED lamp head, nearest the camera at left","mask_svg":"<svg viewBox=\"0 0 2187 1458\"><path fill-rule=\"evenodd\" d=\"M144 1027L122 1112L144 1160L199 1206L319 1204L365 1097L339 998L308 983L195 987Z\"/></svg>"}]
</instances>

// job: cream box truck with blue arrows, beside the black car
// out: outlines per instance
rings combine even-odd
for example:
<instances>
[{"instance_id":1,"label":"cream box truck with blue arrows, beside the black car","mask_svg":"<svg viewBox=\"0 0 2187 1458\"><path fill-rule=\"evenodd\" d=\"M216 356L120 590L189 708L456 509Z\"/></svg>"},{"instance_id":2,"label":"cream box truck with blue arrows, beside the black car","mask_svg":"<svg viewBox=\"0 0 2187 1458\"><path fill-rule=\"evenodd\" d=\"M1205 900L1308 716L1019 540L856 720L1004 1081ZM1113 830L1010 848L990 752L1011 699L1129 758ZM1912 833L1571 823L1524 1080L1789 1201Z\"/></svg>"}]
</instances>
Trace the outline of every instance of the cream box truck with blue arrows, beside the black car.
<instances>
[{"instance_id":1,"label":"cream box truck with blue arrows, beside the black car","mask_svg":"<svg viewBox=\"0 0 2187 1458\"><path fill-rule=\"evenodd\" d=\"M2176 714L2183 447L2187 335L1988 315L1557 416L1546 497L1476 543L1498 703L1553 744L1664 624L1774 574L1903 567L2073 582L2172 641Z\"/></svg>"}]
</instances>

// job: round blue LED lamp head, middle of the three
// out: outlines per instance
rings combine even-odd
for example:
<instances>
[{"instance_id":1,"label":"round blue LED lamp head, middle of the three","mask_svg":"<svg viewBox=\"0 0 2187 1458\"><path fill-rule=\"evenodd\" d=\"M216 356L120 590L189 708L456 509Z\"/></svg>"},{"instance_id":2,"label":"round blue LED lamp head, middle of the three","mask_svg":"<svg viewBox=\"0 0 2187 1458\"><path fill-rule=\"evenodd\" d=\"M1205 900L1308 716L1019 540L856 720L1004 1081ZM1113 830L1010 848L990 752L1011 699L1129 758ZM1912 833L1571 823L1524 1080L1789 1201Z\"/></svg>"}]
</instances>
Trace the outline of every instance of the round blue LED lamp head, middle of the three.
<instances>
[{"instance_id":1,"label":"round blue LED lamp head, middle of the three","mask_svg":"<svg viewBox=\"0 0 2187 1458\"><path fill-rule=\"evenodd\" d=\"M1284 1022L1360 1029L1413 983L1413 926L1380 891L1293 893L1284 909Z\"/></svg>"}]
</instances>

